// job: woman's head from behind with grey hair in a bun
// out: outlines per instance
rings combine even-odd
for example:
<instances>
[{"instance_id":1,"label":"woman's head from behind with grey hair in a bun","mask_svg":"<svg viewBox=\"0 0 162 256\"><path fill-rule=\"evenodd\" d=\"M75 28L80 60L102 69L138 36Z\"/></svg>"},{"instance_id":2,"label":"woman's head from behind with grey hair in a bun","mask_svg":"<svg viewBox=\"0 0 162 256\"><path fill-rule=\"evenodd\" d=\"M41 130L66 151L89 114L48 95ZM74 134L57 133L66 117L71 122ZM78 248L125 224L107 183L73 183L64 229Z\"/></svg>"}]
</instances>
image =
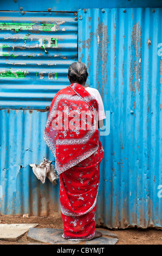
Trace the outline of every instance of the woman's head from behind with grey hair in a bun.
<instances>
[{"instance_id":1,"label":"woman's head from behind with grey hair in a bun","mask_svg":"<svg viewBox=\"0 0 162 256\"><path fill-rule=\"evenodd\" d=\"M73 62L68 69L70 83L85 84L88 77L87 66L82 62Z\"/></svg>"}]
</instances>

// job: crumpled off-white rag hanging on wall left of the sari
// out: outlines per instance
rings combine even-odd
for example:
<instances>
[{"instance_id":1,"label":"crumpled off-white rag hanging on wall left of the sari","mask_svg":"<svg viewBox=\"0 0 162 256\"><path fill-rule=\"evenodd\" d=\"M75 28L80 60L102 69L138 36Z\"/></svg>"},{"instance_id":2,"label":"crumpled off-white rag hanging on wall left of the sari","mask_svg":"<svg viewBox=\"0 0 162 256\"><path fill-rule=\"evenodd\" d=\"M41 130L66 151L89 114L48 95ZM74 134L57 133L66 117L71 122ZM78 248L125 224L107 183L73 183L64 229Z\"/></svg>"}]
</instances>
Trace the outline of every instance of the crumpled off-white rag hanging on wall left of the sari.
<instances>
[{"instance_id":1,"label":"crumpled off-white rag hanging on wall left of the sari","mask_svg":"<svg viewBox=\"0 0 162 256\"><path fill-rule=\"evenodd\" d=\"M52 161L48 161L46 157L44 157L44 161L40 164L29 164L33 168L33 172L42 183L45 182L46 177L51 181L53 185L56 185L56 179L58 176L55 172L55 167L51 164Z\"/></svg>"}]
</instances>

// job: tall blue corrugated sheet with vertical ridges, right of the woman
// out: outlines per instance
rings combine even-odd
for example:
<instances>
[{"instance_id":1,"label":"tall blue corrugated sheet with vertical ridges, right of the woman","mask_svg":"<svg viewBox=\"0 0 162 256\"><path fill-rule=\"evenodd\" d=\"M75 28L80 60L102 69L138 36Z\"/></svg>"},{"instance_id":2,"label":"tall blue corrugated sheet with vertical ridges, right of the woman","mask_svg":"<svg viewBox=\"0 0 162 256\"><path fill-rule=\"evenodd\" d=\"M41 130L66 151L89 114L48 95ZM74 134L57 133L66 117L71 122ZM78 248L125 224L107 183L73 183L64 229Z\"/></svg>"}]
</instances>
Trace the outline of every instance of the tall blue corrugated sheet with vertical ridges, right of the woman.
<instances>
[{"instance_id":1,"label":"tall blue corrugated sheet with vertical ridges, right of the woman","mask_svg":"<svg viewBox=\"0 0 162 256\"><path fill-rule=\"evenodd\" d=\"M96 221L162 227L162 10L87 9L78 16L79 59L111 111L110 134L100 136L105 157Z\"/></svg>"}]
</instances>

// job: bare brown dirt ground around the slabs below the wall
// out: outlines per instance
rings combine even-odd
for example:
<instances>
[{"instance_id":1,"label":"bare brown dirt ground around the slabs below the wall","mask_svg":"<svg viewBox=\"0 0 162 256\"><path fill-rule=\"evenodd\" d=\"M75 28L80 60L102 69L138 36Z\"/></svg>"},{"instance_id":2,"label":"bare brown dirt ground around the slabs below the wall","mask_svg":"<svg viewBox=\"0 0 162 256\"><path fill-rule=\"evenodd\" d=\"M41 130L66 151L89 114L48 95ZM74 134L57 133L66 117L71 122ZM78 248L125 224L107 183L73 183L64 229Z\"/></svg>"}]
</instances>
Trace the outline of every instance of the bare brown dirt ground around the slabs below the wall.
<instances>
[{"instance_id":1,"label":"bare brown dirt ground around the slabs below the wall","mask_svg":"<svg viewBox=\"0 0 162 256\"><path fill-rule=\"evenodd\" d=\"M63 228L62 218L54 217L37 217L29 216L29 218L22 216L8 216L0 215L0 224L14 224L14 223L38 223L37 228ZM103 229L104 228L100 228ZM107 229L107 228L106 228ZM96 228L98 230L98 228ZM119 241L116 245L162 245L162 230L160 229L108 229L112 233L118 235ZM16 242L0 240L0 245L26 245L29 243L27 239L28 232L23 235Z\"/></svg>"}]
</instances>

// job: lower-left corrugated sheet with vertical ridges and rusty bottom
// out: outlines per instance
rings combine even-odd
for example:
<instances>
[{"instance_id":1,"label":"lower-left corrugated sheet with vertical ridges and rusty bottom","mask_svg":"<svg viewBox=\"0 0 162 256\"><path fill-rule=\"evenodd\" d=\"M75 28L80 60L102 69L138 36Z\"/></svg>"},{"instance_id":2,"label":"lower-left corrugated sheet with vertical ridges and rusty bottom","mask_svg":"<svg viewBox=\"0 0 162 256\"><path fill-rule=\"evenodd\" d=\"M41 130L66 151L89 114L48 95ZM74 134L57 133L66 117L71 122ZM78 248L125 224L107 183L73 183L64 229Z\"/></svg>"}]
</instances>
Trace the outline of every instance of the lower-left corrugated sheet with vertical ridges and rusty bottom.
<instances>
[{"instance_id":1,"label":"lower-left corrugated sheet with vertical ridges and rusty bottom","mask_svg":"<svg viewBox=\"0 0 162 256\"><path fill-rule=\"evenodd\" d=\"M0 212L2 214L61 216L59 180L44 184L33 173L30 163L41 163L43 156L55 161L43 140L48 112L0 110ZM54 162L53 162L54 164Z\"/></svg>"}]
</instances>

